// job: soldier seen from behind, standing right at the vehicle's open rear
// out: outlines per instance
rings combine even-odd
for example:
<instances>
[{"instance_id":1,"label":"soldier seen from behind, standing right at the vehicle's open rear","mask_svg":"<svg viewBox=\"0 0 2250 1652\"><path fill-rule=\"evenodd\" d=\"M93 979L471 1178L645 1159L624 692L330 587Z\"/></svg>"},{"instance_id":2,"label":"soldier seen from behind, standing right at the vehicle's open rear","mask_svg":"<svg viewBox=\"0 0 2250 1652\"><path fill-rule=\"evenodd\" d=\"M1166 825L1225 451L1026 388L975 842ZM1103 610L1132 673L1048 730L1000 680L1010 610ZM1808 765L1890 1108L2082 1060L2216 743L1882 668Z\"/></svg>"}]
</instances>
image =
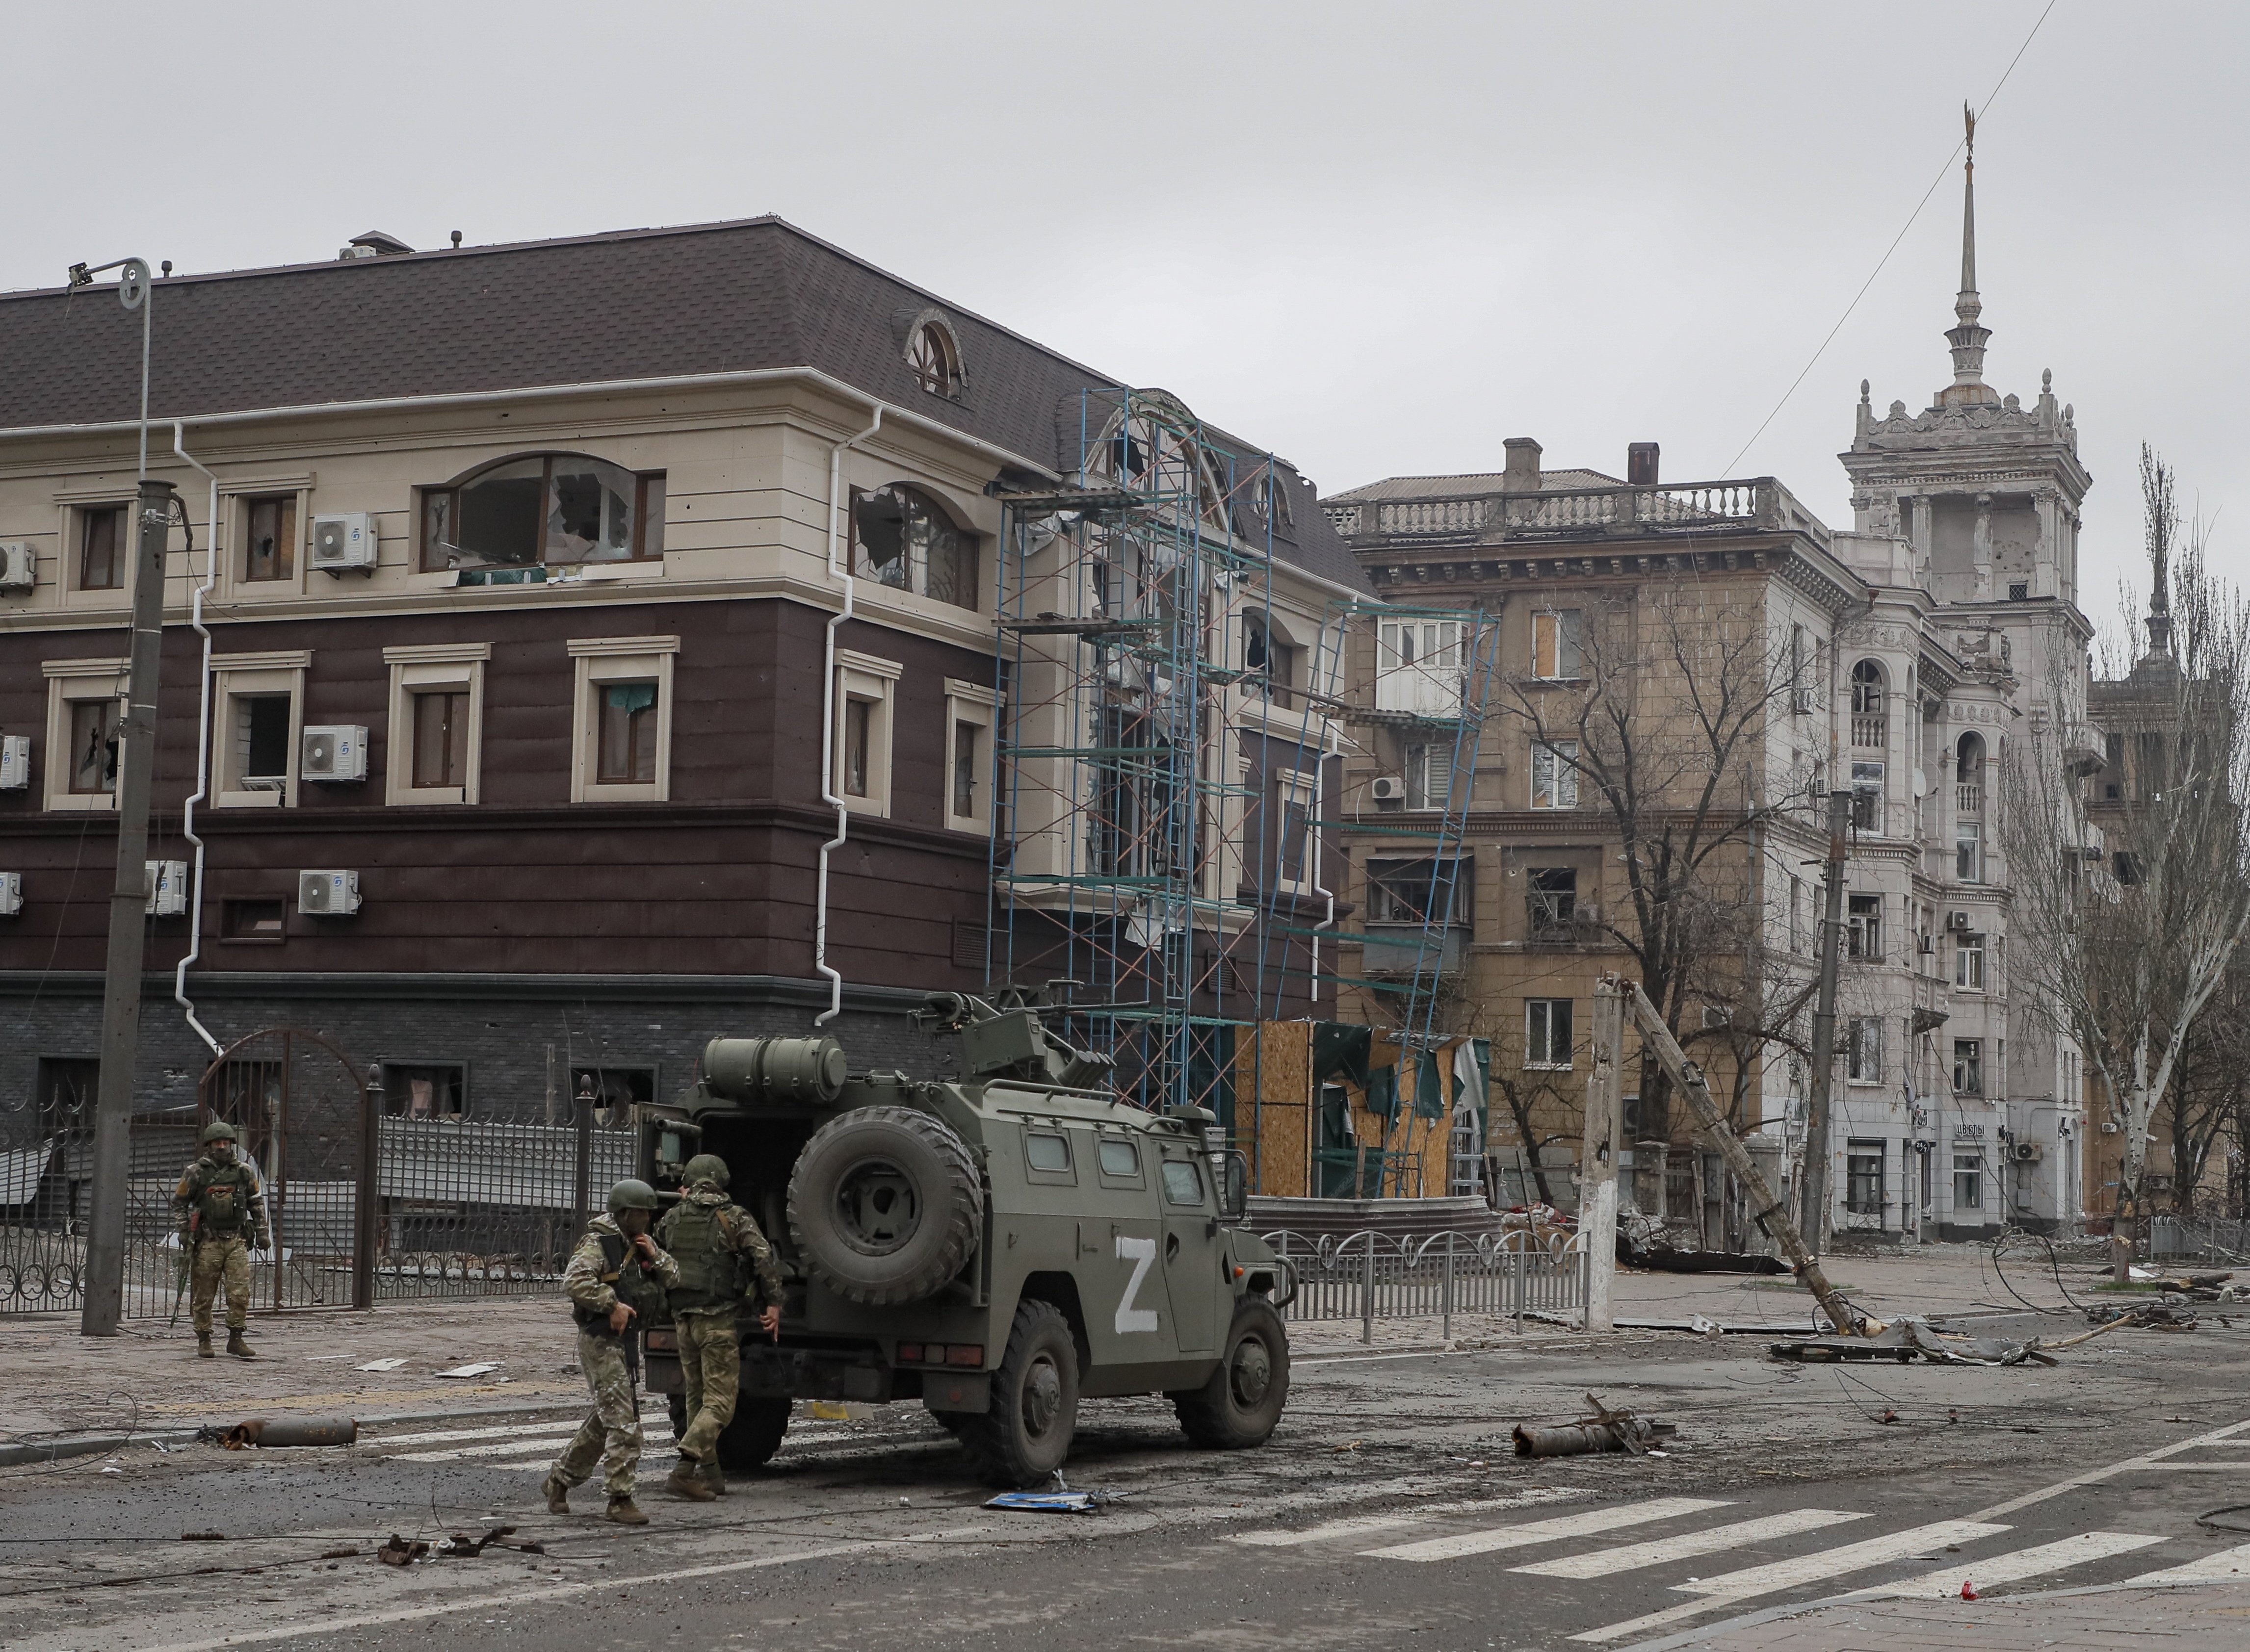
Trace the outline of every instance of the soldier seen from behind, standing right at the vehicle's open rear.
<instances>
[{"instance_id":1,"label":"soldier seen from behind, standing right at the vehicle's open rear","mask_svg":"<svg viewBox=\"0 0 2250 1652\"><path fill-rule=\"evenodd\" d=\"M680 1465L664 1485L698 1503L727 1494L718 1436L734 1422L742 1384L742 1330L736 1310L758 1314L758 1328L781 1332L781 1269L758 1222L727 1197L727 1161L698 1152L680 1173L684 1193L664 1213L657 1238L680 1263L670 1294L680 1332L680 1371L688 1384L688 1427ZM747 1265L747 1267L745 1267ZM745 1272L749 1278L745 1278Z\"/></svg>"}]
</instances>

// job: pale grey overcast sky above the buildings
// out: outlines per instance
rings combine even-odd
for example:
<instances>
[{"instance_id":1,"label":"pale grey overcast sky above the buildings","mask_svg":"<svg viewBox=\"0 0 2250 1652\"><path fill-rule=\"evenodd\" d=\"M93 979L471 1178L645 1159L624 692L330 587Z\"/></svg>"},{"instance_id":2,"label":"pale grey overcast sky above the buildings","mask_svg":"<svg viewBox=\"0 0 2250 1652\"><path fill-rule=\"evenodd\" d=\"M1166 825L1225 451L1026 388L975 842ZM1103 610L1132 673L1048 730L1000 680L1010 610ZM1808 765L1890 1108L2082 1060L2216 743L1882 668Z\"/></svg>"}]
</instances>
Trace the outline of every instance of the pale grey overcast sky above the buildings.
<instances>
[{"instance_id":1,"label":"pale grey overcast sky above the buildings","mask_svg":"<svg viewBox=\"0 0 2250 1652\"><path fill-rule=\"evenodd\" d=\"M1330 493L1660 441L1850 527L1858 380L1948 380L1958 169L1735 455L2043 7L16 9L0 288L778 212ZM2243 5L2059 0L1980 128L1987 378L2077 405L2097 619L2142 441L2246 567L2246 47Z\"/></svg>"}]
</instances>

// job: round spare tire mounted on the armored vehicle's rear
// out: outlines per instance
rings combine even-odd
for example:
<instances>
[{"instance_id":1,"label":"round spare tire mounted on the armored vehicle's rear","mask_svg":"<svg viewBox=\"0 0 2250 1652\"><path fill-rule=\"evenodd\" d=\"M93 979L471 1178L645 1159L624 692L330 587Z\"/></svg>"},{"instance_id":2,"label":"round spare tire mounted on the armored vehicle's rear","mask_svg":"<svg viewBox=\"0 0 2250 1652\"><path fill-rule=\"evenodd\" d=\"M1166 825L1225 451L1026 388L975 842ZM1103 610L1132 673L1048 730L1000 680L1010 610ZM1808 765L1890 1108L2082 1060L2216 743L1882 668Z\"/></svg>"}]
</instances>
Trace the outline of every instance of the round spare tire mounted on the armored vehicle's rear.
<instances>
[{"instance_id":1,"label":"round spare tire mounted on the armored vehicle's rear","mask_svg":"<svg viewBox=\"0 0 2250 1652\"><path fill-rule=\"evenodd\" d=\"M914 1107L830 1119L790 1173L796 1254L828 1290L868 1308L940 1290L976 1254L981 1229L968 1143Z\"/></svg>"}]
</instances>

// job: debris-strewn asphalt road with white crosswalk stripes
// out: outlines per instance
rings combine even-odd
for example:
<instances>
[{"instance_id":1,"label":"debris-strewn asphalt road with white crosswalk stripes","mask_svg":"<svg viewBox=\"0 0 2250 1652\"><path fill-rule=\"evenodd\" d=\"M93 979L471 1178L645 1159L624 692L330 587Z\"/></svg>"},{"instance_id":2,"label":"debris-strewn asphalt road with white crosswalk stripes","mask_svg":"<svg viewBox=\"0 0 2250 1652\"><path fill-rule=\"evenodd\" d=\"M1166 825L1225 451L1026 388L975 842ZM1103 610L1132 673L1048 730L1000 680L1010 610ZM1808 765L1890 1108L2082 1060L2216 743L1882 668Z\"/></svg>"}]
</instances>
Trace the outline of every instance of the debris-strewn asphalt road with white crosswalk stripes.
<instances>
[{"instance_id":1,"label":"debris-strewn asphalt road with white crosswalk stripes","mask_svg":"<svg viewBox=\"0 0 2250 1652\"><path fill-rule=\"evenodd\" d=\"M2030 1321L2014 1326L2030 1330ZM2068 1326L2050 1323L2050 1335ZM1008 1515L916 1409L799 1420L720 1503L556 1519L576 1418L479 1413L356 1447L148 1447L0 1472L0 1645L1647 1647L1868 1587L1984 1596L2210 1564L2250 1575L2250 1323L2115 1332L2041 1368L1791 1368L1762 1341L1642 1337L1307 1359L1260 1452L1190 1449L1154 1400L1089 1402L1073 1488ZM1678 1425L1665 1456L1510 1456L1600 1393ZM1883 1411L1894 1422L1879 1420ZM115 1470L115 1472L106 1472ZM547 1553L410 1569L376 1539L515 1524ZM182 1542L182 1533L225 1542ZM2214 1560L2216 1557L2216 1560Z\"/></svg>"}]
</instances>

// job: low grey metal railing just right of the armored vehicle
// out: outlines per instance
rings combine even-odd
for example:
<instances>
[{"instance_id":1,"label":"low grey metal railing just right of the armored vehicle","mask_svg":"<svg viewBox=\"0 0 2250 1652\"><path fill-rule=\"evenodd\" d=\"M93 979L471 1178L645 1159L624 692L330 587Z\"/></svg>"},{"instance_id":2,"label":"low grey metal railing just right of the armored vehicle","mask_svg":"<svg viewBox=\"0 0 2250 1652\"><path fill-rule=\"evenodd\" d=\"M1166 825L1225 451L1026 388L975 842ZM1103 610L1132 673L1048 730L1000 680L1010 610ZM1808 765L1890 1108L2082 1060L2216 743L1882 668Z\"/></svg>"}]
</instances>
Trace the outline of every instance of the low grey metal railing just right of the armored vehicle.
<instances>
[{"instance_id":1,"label":"low grey metal railing just right of the armored vehicle","mask_svg":"<svg viewBox=\"0 0 2250 1652\"><path fill-rule=\"evenodd\" d=\"M1282 1317L1357 1319L1361 1341L1375 1341L1377 1319L1438 1319L1451 1337L1454 1314L1514 1319L1521 1330L1526 1314L1586 1301L1586 1245L1577 1236L1546 1249L1523 1231L1310 1238L1282 1229L1264 1242L1296 1276Z\"/></svg>"}]
</instances>

